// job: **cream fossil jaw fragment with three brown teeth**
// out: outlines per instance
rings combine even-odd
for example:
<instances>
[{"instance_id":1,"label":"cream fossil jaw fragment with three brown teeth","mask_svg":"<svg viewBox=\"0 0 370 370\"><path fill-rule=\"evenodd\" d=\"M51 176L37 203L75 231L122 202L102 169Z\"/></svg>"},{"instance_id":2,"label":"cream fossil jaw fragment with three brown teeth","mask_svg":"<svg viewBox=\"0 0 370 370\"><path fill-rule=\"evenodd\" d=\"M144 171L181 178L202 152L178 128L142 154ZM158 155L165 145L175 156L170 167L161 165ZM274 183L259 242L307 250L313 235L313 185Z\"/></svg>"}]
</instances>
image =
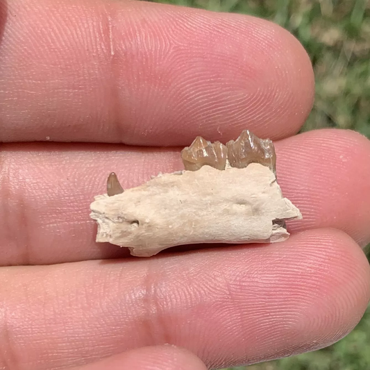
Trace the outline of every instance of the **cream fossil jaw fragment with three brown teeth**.
<instances>
[{"instance_id":1,"label":"cream fossil jaw fragment with three brown teeth","mask_svg":"<svg viewBox=\"0 0 370 370\"><path fill-rule=\"evenodd\" d=\"M276 182L271 141L249 131L226 146L197 137L181 156L185 171L125 191L110 174L108 194L90 205L96 242L144 257L183 244L281 242L284 221L302 218Z\"/></svg>"}]
</instances>

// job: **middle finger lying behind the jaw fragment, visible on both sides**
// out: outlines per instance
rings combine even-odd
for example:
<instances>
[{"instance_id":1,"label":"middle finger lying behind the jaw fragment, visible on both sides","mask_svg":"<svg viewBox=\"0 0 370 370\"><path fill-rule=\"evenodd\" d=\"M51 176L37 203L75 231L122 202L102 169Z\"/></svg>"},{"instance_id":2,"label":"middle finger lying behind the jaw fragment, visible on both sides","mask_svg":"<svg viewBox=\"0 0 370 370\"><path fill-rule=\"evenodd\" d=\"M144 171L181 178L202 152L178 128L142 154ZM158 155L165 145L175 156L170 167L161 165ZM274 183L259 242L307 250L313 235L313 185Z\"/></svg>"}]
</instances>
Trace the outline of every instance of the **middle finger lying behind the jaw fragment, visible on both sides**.
<instances>
[{"instance_id":1,"label":"middle finger lying behind the jaw fragment, visible on both sides","mask_svg":"<svg viewBox=\"0 0 370 370\"><path fill-rule=\"evenodd\" d=\"M96 244L93 197L116 171L124 188L183 168L178 152L117 146L4 145L0 263L52 264L127 255ZM370 142L351 131L313 131L276 143L278 181L303 220L289 230L333 227L370 242Z\"/></svg>"}]
</instances>

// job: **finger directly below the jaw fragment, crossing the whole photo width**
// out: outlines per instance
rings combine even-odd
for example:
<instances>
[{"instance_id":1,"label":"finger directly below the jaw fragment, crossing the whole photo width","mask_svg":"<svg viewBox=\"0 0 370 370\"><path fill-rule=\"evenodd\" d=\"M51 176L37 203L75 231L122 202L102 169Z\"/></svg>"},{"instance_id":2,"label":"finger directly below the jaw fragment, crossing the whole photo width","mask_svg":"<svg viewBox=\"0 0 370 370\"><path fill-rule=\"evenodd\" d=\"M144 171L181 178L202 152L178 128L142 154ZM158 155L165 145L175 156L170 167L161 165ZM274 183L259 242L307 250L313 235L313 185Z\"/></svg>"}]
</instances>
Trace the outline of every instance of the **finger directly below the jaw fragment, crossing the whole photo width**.
<instances>
[{"instance_id":1,"label":"finger directly below the jaw fragment, crossing the whole photo width","mask_svg":"<svg viewBox=\"0 0 370 370\"><path fill-rule=\"evenodd\" d=\"M294 355L346 335L370 295L367 258L335 229L135 262L3 267L0 279L0 365L28 370L166 343L216 369Z\"/></svg>"}]
</instances>

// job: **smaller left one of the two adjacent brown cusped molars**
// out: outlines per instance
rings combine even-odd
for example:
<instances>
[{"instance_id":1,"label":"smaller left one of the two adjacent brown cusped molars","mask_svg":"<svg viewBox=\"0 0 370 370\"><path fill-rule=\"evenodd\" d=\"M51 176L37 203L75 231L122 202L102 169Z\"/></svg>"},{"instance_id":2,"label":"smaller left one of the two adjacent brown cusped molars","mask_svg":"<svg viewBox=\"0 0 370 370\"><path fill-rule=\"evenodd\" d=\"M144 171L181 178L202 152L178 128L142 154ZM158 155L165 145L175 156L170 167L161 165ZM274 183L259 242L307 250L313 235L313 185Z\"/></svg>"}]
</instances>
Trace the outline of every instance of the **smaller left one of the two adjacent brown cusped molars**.
<instances>
[{"instance_id":1,"label":"smaller left one of the two adjacent brown cusped molars","mask_svg":"<svg viewBox=\"0 0 370 370\"><path fill-rule=\"evenodd\" d=\"M208 142L197 136L190 146L181 151L184 167L187 171L196 171L204 165L215 169L225 169L227 149L221 142Z\"/></svg>"}]
</instances>

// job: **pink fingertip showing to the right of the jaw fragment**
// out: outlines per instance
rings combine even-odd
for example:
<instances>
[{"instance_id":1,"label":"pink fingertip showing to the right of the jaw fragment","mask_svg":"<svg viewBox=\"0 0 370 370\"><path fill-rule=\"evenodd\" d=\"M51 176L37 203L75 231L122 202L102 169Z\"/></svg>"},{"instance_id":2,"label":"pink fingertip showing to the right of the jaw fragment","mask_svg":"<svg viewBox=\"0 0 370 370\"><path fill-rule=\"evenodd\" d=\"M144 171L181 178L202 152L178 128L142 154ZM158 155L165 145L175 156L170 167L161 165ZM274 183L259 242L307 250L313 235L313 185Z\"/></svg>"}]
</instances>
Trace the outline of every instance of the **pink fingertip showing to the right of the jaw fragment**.
<instances>
[{"instance_id":1,"label":"pink fingertip showing to the right of the jaw fragment","mask_svg":"<svg viewBox=\"0 0 370 370\"><path fill-rule=\"evenodd\" d=\"M278 180L304 219L289 230L334 227L370 242L370 141L355 131L322 130L278 143Z\"/></svg>"}]
</instances>

